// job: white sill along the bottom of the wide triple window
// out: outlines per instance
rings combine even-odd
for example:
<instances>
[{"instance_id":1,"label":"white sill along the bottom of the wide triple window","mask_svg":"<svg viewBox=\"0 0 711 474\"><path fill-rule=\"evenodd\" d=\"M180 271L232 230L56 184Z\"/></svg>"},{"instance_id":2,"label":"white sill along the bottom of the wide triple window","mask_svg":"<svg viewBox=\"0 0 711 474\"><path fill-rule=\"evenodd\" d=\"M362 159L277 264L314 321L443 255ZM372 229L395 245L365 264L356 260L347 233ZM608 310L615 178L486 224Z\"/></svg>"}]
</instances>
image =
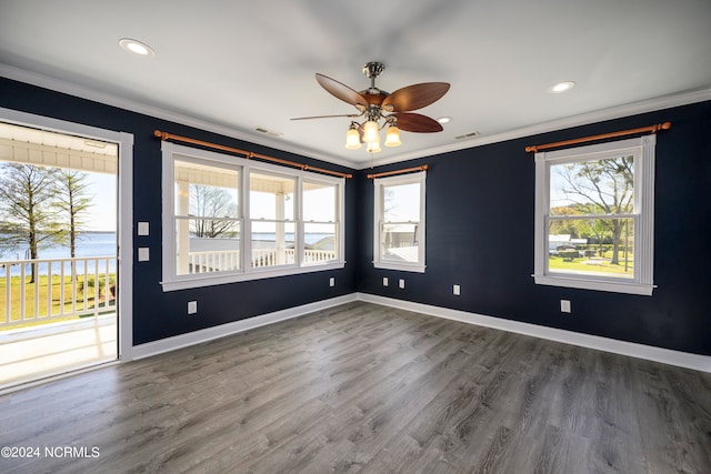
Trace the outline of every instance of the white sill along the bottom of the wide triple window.
<instances>
[{"instance_id":1,"label":"white sill along the bottom of the wide triple window","mask_svg":"<svg viewBox=\"0 0 711 474\"><path fill-rule=\"evenodd\" d=\"M227 275L203 274L200 276L190 275L179 280L163 281L161 285L163 292L188 290L193 288L213 286L227 283L247 282L253 280L273 279L277 276L299 275L303 273L323 272L338 270L346 266L346 262L333 262L324 265L289 266L270 270L259 270L246 273L231 273Z\"/></svg>"}]
</instances>

